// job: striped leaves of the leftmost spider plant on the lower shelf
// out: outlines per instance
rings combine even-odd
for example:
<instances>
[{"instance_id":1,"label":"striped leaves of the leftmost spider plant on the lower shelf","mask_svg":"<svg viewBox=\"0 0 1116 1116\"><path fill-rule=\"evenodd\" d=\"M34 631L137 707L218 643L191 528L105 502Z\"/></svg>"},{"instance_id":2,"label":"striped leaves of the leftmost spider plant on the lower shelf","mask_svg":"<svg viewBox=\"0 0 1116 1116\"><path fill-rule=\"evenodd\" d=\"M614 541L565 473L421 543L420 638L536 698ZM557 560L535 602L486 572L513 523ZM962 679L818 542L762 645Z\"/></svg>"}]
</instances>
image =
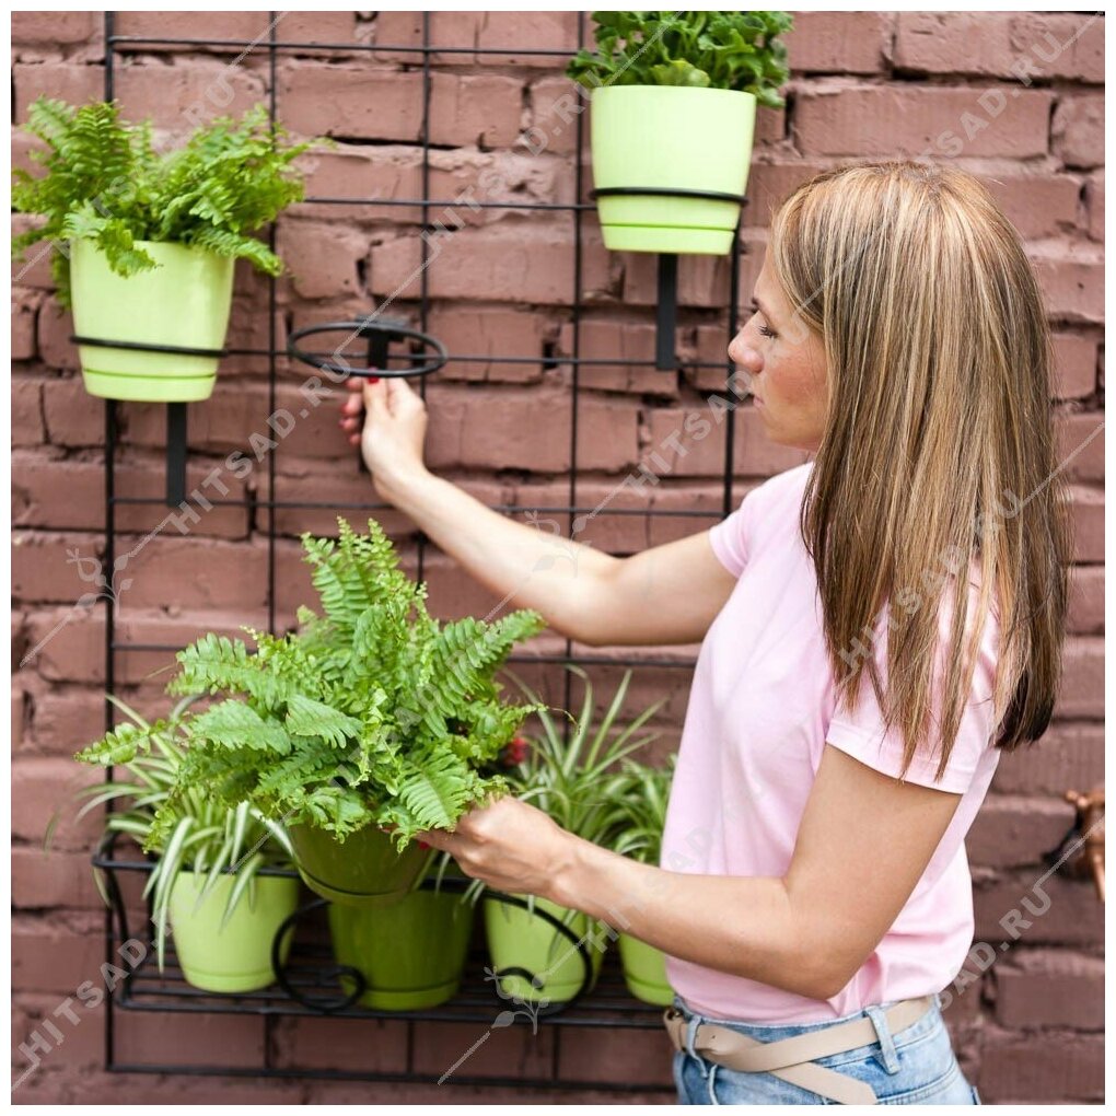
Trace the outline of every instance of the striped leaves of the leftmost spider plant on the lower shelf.
<instances>
[{"instance_id":1,"label":"striped leaves of the leftmost spider plant on the lower shelf","mask_svg":"<svg viewBox=\"0 0 1116 1116\"><path fill-rule=\"evenodd\" d=\"M83 762L110 761L122 766L126 777L84 788L79 797L87 801L77 817L84 818L109 802L123 806L106 815L106 833L126 834L145 853L155 855L155 867L143 894L152 899L155 949L162 971L171 892L181 873L193 870L205 876L198 894L199 904L222 875L235 875L225 903L223 925L246 894L251 898L259 869L291 866L294 852L283 826L263 817L248 802L225 805L215 801L204 787L180 785L189 757L183 732L186 709L196 701L196 695L183 699L167 718L155 722L144 720L118 698L109 694L108 699L131 719L110 735L121 741L143 739L146 749L128 758L124 749L113 754L96 748L78 752L76 758ZM49 839L48 833L48 844ZM107 902L99 875L97 883Z\"/></svg>"}]
</instances>

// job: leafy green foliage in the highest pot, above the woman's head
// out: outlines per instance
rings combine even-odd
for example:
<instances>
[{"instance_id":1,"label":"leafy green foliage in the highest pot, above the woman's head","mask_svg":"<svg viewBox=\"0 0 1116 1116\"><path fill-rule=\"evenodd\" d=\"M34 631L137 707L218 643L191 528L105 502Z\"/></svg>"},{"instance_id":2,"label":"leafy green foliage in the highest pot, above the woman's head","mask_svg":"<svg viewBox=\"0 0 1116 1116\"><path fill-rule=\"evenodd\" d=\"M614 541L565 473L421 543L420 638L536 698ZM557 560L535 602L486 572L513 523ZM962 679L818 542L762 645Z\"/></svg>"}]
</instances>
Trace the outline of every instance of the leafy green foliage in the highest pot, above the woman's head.
<instances>
[{"instance_id":1,"label":"leafy green foliage in the highest pot, above the woman's head","mask_svg":"<svg viewBox=\"0 0 1116 1116\"><path fill-rule=\"evenodd\" d=\"M581 49L566 75L602 85L681 85L739 89L779 108L790 76L778 36L793 19L785 11L595 11L597 50Z\"/></svg>"}]
</instances>

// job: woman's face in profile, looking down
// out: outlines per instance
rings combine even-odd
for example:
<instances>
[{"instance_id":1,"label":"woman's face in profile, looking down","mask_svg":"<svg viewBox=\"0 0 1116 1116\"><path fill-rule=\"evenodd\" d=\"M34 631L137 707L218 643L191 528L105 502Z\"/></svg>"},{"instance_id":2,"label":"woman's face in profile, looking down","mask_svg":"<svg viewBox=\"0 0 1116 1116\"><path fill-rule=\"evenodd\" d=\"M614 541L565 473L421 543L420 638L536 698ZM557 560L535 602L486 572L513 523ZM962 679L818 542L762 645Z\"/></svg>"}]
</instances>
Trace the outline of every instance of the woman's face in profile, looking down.
<instances>
[{"instance_id":1,"label":"woman's face in profile, looking down","mask_svg":"<svg viewBox=\"0 0 1116 1116\"><path fill-rule=\"evenodd\" d=\"M768 437L817 452L828 405L825 346L787 301L770 253L756 280L753 314L732 338L729 359L751 377L749 391Z\"/></svg>"}]
</instances>

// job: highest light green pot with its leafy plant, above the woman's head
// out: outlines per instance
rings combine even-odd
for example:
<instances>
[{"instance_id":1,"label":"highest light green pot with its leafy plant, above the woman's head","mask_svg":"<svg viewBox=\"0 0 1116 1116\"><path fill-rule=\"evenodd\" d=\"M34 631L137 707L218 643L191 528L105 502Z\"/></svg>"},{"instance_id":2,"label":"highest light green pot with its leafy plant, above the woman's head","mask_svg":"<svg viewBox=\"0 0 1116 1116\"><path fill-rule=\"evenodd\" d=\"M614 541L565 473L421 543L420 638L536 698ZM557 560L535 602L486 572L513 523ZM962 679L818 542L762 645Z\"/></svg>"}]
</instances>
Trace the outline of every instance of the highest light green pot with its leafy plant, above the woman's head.
<instances>
[{"instance_id":1,"label":"highest light green pot with its leafy plant, above the woman's head","mask_svg":"<svg viewBox=\"0 0 1116 1116\"><path fill-rule=\"evenodd\" d=\"M595 11L596 51L567 76L593 90L593 177L605 247L724 256L756 108L783 104L783 11Z\"/></svg>"}]
</instances>

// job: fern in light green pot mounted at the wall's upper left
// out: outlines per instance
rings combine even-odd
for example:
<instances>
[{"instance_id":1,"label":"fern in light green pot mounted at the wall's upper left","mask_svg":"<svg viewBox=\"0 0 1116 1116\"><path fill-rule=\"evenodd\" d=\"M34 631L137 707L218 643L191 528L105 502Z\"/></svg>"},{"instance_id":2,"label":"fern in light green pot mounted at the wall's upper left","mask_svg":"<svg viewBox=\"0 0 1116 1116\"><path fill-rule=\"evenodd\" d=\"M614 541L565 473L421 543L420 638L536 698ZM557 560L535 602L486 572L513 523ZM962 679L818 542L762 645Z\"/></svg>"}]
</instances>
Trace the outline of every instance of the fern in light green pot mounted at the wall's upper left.
<instances>
[{"instance_id":1,"label":"fern in light green pot mounted at the wall's upper left","mask_svg":"<svg viewBox=\"0 0 1116 1116\"><path fill-rule=\"evenodd\" d=\"M281 272L279 257L251 233L302 198L291 163L325 141L287 143L263 105L239 123L221 117L196 128L162 154L151 122L122 122L116 102L75 108L39 97L26 128L46 144L31 153L46 174L17 170L12 208L47 220L13 238L12 254L42 240L58 246L58 301L73 309L76 336L89 339L78 346L86 391L155 403L209 398L233 264L247 259Z\"/></svg>"}]
</instances>

